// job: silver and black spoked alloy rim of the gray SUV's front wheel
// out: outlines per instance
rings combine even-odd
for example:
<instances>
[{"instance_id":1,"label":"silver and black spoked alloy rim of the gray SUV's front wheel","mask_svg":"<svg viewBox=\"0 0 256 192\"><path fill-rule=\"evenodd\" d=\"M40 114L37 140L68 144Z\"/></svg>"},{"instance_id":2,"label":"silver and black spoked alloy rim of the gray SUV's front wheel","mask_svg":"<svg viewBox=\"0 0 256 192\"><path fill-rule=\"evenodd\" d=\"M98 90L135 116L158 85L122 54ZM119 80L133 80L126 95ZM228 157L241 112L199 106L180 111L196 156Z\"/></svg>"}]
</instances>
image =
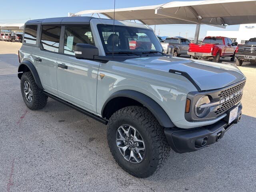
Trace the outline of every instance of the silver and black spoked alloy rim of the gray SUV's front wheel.
<instances>
[{"instance_id":1,"label":"silver and black spoked alloy rim of the gray SUV's front wheel","mask_svg":"<svg viewBox=\"0 0 256 192\"><path fill-rule=\"evenodd\" d=\"M128 162L138 164L144 160L145 143L136 128L127 124L120 126L116 130L116 145Z\"/></svg>"}]
</instances>

